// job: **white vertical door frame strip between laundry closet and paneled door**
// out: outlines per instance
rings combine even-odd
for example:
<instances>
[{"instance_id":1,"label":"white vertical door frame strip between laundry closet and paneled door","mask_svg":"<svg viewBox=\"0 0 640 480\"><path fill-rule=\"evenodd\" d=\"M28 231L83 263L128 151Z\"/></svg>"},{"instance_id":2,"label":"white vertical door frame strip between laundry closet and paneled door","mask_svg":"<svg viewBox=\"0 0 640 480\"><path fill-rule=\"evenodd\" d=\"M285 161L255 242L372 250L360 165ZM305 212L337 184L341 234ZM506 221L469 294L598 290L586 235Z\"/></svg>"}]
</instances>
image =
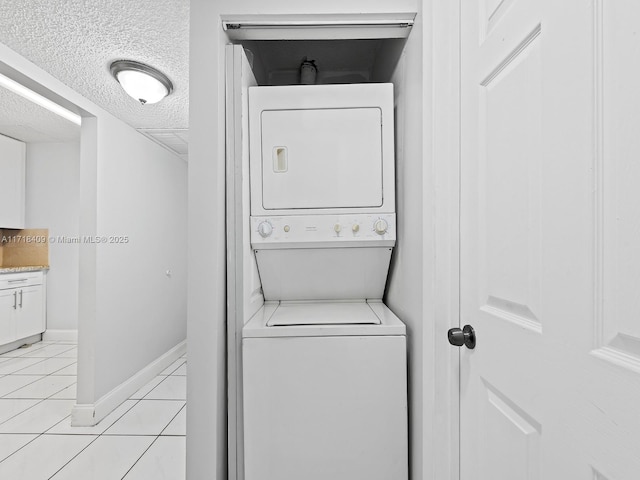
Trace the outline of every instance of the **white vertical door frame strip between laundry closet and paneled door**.
<instances>
[{"instance_id":1,"label":"white vertical door frame strip between laundry closet and paneled door","mask_svg":"<svg viewBox=\"0 0 640 480\"><path fill-rule=\"evenodd\" d=\"M425 479L460 478L460 350L447 331L460 326L461 2L423 2Z\"/></svg>"}]
</instances>

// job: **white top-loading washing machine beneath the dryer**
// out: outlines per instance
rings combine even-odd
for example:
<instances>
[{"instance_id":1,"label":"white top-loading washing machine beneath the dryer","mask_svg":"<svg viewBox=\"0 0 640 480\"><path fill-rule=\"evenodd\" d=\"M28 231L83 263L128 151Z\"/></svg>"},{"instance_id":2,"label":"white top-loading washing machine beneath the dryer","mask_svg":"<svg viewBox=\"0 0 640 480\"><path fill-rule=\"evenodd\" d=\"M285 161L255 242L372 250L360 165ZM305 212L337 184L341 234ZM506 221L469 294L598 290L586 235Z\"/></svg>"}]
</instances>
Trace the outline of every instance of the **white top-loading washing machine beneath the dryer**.
<instances>
[{"instance_id":1,"label":"white top-loading washing machine beneath the dryer","mask_svg":"<svg viewBox=\"0 0 640 480\"><path fill-rule=\"evenodd\" d=\"M407 478L405 326L384 304L267 303L242 336L247 480Z\"/></svg>"}]
</instances>

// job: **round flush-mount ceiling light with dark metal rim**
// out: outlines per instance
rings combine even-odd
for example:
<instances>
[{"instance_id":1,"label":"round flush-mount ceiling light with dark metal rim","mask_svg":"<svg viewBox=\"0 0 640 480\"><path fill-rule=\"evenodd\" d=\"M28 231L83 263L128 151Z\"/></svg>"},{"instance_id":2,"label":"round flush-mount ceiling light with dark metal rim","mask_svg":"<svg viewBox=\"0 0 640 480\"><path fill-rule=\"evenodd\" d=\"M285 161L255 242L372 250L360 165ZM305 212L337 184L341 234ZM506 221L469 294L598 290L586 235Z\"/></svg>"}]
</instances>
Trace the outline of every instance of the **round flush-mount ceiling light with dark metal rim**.
<instances>
[{"instance_id":1,"label":"round flush-mount ceiling light with dark metal rim","mask_svg":"<svg viewBox=\"0 0 640 480\"><path fill-rule=\"evenodd\" d=\"M116 60L111 75L142 105L157 103L173 91L171 80L159 70L133 60Z\"/></svg>"}]
</instances>

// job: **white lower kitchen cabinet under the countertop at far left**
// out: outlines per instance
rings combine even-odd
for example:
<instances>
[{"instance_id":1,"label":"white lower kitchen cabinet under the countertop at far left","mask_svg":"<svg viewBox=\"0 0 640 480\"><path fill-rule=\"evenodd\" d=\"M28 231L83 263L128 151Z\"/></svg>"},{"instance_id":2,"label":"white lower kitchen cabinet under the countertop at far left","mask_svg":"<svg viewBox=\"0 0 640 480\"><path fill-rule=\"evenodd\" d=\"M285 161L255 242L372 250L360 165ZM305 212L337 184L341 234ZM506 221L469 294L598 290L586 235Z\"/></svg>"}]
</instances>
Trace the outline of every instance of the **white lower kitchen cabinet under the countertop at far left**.
<instances>
[{"instance_id":1,"label":"white lower kitchen cabinet under the countertop at far left","mask_svg":"<svg viewBox=\"0 0 640 480\"><path fill-rule=\"evenodd\" d=\"M0 275L0 345L44 332L43 272Z\"/></svg>"}]
</instances>

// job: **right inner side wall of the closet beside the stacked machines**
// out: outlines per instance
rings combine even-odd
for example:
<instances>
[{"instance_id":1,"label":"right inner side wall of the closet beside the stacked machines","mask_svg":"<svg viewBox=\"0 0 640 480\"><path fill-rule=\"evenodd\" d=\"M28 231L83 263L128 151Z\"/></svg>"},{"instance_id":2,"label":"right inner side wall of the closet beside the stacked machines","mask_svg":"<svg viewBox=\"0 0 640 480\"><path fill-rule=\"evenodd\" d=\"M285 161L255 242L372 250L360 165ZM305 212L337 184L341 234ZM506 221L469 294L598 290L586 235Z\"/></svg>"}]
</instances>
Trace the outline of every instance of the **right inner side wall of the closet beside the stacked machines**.
<instances>
[{"instance_id":1,"label":"right inner side wall of the closet beside the stacked machines","mask_svg":"<svg viewBox=\"0 0 640 480\"><path fill-rule=\"evenodd\" d=\"M424 395L425 350L424 309L430 298L425 291L428 277L424 275L425 252L430 248L430 235L424 231L424 208L428 192L422 182L425 158L423 119L423 59L422 14L416 18L405 45L403 58L393 82L396 94L396 196L397 243L389 271L385 303L407 326L409 371L409 439L411 446L411 478L425 475L427 450L425 412L428 397ZM428 460L427 460L428 461Z\"/></svg>"}]
</instances>

